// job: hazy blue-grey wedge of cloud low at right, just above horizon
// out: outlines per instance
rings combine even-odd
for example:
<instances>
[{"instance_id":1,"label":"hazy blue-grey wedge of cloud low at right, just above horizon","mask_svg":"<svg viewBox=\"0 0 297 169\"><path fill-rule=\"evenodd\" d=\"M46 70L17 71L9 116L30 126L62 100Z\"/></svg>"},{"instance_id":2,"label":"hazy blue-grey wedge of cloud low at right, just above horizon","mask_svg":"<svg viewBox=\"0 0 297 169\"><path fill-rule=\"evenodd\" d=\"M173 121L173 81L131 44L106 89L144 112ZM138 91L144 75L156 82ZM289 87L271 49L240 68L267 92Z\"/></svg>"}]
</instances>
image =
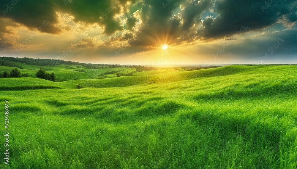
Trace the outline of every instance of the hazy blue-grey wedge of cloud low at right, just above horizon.
<instances>
[{"instance_id":1,"label":"hazy blue-grey wedge of cloud low at right, just above horizon","mask_svg":"<svg viewBox=\"0 0 297 169\"><path fill-rule=\"evenodd\" d=\"M213 57L216 54L216 59L224 60L228 56L235 58L249 58L255 61L259 60L266 53L271 58L277 57L279 59L288 60L296 59L297 53L297 30L284 30L275 33L266 33L263 35L252 36L250 38L243 38L238 40L225 41L221 44L212 45L210 48L201 47L200 53ZM281 41L280 41L281 40ZM229 45L227 47L227 44ZM219 52L221 50L222 52Z\"/></svg>"}]
</instances>

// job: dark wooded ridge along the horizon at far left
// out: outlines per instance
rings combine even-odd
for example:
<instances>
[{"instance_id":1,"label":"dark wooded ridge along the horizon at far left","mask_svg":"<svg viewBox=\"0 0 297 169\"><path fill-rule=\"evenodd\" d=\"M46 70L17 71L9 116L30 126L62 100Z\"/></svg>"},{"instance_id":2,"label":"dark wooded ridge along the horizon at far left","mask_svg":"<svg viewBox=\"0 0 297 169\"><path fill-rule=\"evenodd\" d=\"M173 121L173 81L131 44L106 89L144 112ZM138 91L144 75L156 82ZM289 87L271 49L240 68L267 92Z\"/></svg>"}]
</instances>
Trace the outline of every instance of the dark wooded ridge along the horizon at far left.
<instances>
[{"instance_id":1,"label":"dark wooded ridge along the horizon at far left","mask_svg":"<svg viewBox=\"0 0 297 169\"><path fill-rule=\"evenodd\" d=\"M119 65L109 65L109 64L93 64L93 63L80 63L72 61L64 61L60 59L34 59L29 57L0 57L0 66L10 66L10 67L20 67L15 65L13 62L20 62L27 65L36 66L56 66L56 65L80 65L87 69L102 69L102 68L113 68L119 67Z\"/></svg>"}]
</instances>

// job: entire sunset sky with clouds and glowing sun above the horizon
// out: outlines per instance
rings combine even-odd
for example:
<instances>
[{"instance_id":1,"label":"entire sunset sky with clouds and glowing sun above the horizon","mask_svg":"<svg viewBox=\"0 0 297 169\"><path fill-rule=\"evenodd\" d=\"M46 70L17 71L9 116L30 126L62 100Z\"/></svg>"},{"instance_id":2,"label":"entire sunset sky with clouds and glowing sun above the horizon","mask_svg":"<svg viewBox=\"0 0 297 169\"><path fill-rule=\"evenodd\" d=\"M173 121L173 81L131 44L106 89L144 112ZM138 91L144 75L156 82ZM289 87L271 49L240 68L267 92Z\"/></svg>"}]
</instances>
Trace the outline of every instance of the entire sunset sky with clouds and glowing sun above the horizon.
<instances>
[{"instance_id":1,"label":"entire sunset sky with clouds and glowing sun above the horizon","mask_svg":"<svg viewBox=\"0 0 297 169\"><path fill-rule=\"evenodd\" d=\"M297 64L297 0L2 0L0 9L0 56Z\"/></svg>"}]
</instances>

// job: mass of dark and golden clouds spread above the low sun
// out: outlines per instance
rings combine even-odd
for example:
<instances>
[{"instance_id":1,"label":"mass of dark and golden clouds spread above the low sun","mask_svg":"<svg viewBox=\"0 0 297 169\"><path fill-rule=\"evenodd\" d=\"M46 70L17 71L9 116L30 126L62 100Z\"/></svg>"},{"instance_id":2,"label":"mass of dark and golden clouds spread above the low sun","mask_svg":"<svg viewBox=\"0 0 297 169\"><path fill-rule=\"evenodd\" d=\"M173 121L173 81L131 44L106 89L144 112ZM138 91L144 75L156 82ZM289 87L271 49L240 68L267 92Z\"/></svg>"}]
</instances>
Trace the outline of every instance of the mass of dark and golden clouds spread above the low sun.
<instances>
[{"instance_id":1,"label":"mass of dark and golden clouds spread above the low sun","mask_svg":"<svg viewBox=\"0 0 297 169\"><path fill-rule=\"evenodd\" d=\"M268 31L273 37L292 30L286 33L295 37L297 21L297 0L2 0L0 9L0 49L10 55L32 32L40 34L27 44L30 51L39 45L56 54L72 43L79 54L118 57L164 44L194 48L241 38L252 44L253 36ZM285 45L296 48L293 41ZM77 58L74 53L69 56Z\"/></svg>"}]
</instances>

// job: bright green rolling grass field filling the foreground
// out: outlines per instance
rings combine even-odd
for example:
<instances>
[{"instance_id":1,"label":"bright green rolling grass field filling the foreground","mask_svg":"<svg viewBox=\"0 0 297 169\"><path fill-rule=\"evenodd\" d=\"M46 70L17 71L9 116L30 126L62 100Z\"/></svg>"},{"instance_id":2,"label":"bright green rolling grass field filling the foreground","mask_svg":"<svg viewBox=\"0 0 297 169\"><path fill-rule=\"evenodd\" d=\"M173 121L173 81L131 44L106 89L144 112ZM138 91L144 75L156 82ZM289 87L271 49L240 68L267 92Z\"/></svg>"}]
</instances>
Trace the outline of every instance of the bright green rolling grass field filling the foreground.
<instances>
[{"instance_id":1,"label":"bright green rolling grass field filling the foreground","mask_svg":"<svg viewBox=\"0 0 297 169\"><path fill-rule=\"evenodd\" d=\"M84 70L121 69L131 68ZM82 73L45 70L61 79ZM1 78L10 167L1 154L0 168L297 168L296 75L296 66L233 65L64 82Z\"/></svg>"}]
</instances>

